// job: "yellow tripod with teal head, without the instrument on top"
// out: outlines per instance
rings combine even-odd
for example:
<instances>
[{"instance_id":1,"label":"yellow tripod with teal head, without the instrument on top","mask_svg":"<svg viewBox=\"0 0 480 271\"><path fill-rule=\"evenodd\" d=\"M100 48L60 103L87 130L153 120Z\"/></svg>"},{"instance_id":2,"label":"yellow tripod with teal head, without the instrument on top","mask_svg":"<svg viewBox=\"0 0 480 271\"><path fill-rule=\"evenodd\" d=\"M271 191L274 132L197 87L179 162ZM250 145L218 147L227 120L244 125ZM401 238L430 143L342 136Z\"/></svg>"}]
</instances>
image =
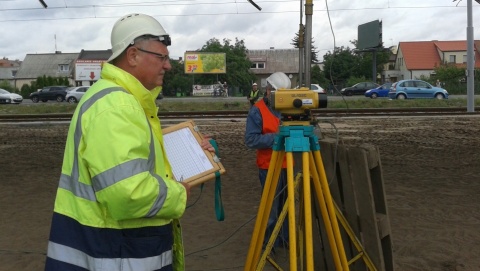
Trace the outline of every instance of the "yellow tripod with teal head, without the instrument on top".
<instances>
[{"instance_id":1,"label":"yellow tripod with teal head, without the instrument on top","mask_svg":"<svg viewBox=\"0 0 480 271\"><path fill-rule=\"evenodd\" d=\"M298 234L296 231L296 214L295 214L295 184L293 170L293 153L301 153L302 156L302 211L298 215L299 219L303 218L302 229ZM268 222L270 210L275 197L276 187L278 185L278 177L280 175L282 162L287 158L287 189L288 199L285 203L284 210L280 215L274 232L270 238L267 249L264 252L262 261L260 255L262 252L262 244L265 238L265 230ZM304 253L305 270L314 270L314 252L313 252L313 236L312 236L312 201L311 201L311 184L313 184L314 194L318 200L322 218L324 221L325 231L327 233L330 249L336 270L349 270L345 249L340 236L340 231L336 218L335 205L330 195L330 189L323 168L322 157L320 155L320 145L318 138L313 133L313 126L304 121L284 122L280 126L280 132L275 138L273 146L270 166L263 188L262 199L258 209L257 220L255 222L252 239L245 263L245 271L263 270L265 256L270 253L272 242L276 238L276 233L288 213L288 230L289 230L289 270L297 270L297 238L299 240L299 251ZM338 213L338 211L337 211ZM345 226L345 225L344 225ZM300 236L303 235L303 236ZM275 265L274 265L275 266ZM278 269L278 266L276 266Z\"/></svg>"}]
</instances>

